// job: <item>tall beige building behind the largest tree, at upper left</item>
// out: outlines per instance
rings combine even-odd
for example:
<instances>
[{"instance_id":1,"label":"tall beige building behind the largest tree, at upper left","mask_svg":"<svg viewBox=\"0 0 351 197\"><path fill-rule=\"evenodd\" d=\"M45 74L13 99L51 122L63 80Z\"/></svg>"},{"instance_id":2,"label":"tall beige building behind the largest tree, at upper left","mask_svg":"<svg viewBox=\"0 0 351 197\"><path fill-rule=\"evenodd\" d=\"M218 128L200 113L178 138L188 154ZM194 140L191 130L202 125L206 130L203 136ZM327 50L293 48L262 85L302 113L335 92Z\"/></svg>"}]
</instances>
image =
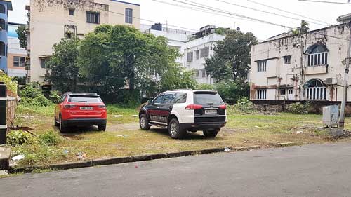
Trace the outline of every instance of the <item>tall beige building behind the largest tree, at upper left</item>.
<instances>
[{"instance_id":1,"label":"tall beige building behind the largest tree, at upper left","mask_svg":"<svg viewBox=\"0 0 351 197\"><path fill-rule=\"evenodd\" d=\"M83 38L101 24L140 27L140 5L117 0L30 0L27 53L30 81L44 81L53 44Z\"/></svg>"}]
</instances>

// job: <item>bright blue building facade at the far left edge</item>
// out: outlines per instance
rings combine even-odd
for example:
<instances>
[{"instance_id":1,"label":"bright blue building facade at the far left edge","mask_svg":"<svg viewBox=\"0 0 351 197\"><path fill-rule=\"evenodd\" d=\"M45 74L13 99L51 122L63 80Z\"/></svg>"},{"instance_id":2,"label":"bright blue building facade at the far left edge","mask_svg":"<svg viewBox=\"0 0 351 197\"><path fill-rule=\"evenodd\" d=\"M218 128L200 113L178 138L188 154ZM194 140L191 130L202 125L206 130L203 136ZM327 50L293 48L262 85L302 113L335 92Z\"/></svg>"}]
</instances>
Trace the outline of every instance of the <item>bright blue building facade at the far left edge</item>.
<instances>
[{"instance_id":1,"label":"bright blue building facade at the far left edge","mask_svg":"<svg viewBox=\"0 0 351 197\"><path fill-rule=\"evenodd\" d=\"M10 0L0 0L0 69L7 73L8 11L12 11Z\"/></svg>"}]
</instances>

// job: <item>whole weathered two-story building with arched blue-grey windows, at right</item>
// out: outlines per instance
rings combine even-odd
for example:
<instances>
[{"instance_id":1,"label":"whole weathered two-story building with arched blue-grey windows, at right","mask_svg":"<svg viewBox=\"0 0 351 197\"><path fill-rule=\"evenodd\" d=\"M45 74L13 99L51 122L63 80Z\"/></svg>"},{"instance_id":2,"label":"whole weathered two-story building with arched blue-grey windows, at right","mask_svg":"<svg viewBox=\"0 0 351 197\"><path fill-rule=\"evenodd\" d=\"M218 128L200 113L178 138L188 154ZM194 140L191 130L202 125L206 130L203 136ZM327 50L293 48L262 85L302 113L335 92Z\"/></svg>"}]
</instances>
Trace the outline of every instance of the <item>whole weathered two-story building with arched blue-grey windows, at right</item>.
<instances>
[{"instance_id":1,"label":"whole weathered two-story building with arched blue-grey windows, at right","mask_svg":"<svg viewBox=\"0 0 351 197\"><path fill-rule=\"evenodd\" d=\"M338 25L306 34L279 34L252 46L251 100L340 102L350 20L351 15L344 15Z\"/></svg>"}]
</instances>

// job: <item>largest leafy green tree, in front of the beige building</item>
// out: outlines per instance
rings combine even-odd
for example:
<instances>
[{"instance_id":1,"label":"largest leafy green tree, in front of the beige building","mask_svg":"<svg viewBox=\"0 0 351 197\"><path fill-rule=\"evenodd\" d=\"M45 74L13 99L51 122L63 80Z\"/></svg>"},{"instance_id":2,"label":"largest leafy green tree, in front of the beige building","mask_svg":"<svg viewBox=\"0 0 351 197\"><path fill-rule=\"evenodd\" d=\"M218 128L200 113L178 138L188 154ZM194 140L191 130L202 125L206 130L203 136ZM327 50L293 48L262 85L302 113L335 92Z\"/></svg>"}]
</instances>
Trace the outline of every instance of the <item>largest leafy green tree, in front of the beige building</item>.
<instances>
[{"instance_id":1,"label":"largest leafy green tree, in front of the beige building","mask_svg":"<svg viewBox=\"0 0 351 197\"><path fill-rule=\"evenodd\" d=\"M171 81L177 88L194 83L176 63L177 57L178 50L162 36L124 25L100 25L81 41L79 73L102 94L117 95L128 88L128 99L137 99L140 91L152 97L170 88Z\"/></svg>"}]
</instances>

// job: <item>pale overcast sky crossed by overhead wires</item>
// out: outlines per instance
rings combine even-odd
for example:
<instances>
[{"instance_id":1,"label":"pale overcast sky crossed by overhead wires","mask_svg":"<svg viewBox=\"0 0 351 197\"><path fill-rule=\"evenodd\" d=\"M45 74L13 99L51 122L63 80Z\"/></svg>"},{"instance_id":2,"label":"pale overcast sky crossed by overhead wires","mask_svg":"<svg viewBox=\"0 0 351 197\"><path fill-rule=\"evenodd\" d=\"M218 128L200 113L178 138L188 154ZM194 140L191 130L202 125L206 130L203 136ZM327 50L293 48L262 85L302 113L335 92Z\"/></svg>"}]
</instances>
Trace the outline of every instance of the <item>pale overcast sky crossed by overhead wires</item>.
<instances>
[{"instance_id":1,"label":"pale overcast sky crossed by overhead wires","mask_svg":"<svg viewBox=\"0 0 351 197\"><path fill-rule=\"evenodd\" d=\"M312 3L306 1L298 0L157 0L157 1L166 1L169 4L178 4L180 6L171 6L168 4L162 4L153 0L126 0L135 4L141 5L141 18L146 20L157 21L165 23L168 20L169 25L176 25L179 27L184 27L188 29L199 29L206 25L216 25L216 27L240 27L243 32L253 32L258 39L265 40L270 36L280 34L282 32L289 31L288 28L278 27L275 25L268 25L263 22L253 22L248 20L243 20L240 18L232 18L235 15L244 15L250 18L256 18L260 20L265 20L267 22L273 22L278 25L285 25L288 27L297 27L300 22L298 20L293 20L289 18L283 18L277 15L271 15L267 13L262 13L259 11L253 11L248 8L242 8L239 6L234 6L231 4L225 4L220 1L227 1L232 4L239 4L241 6L246 6L249 8L254 8L261 11L267 11L271 13L277 13L280 15L286 15L291 18L303 19L303 17L292 15L289 13L284 13L282 11L277 11L272 8L267 8L258 4L254 4L251 1L259 2L260 4L265 4L268 6L274 6L280 8L284 11L289 11L291 13L297 13L303 15L307 18L312 18L325 22L329 25L335 25L336 18L339 15L345 15L351 13L351 4L320 4ZM178 2L177 2L178 1ZM184 1L188 4L194 4L192 2L197 2L197 9L202 7L208 8L211 6L211 9L220 9L222 13L215 13L215 11L207 11L207 13L201 11L195 11L194 8L187 9L184 6L190 7L187 4L181 4L179 1ZM191 2L192 1L192 2ZM329 0L336 2L347 2L347 0ZM14 0L13 1L13 11L9 12L9 21L10 22L20 22L25 23L25 5L29 4L29 0ZM192 6L194 7L194 6ZM203 8L201 8L203 9ZM231 13L232 15L225 15L224 13ZM114 14L114 13L111 13ZM317 22L315 20L310 20L304 18L307 21ZM319 29L326 27L324 23L322 25L314 24L310 22L311 29ZM322 23L317 22L317 23ZM143 21L142 23L150 24L150 22ZM171 26L170 26L171 27Z\"/></svg>"}]
</instances>

